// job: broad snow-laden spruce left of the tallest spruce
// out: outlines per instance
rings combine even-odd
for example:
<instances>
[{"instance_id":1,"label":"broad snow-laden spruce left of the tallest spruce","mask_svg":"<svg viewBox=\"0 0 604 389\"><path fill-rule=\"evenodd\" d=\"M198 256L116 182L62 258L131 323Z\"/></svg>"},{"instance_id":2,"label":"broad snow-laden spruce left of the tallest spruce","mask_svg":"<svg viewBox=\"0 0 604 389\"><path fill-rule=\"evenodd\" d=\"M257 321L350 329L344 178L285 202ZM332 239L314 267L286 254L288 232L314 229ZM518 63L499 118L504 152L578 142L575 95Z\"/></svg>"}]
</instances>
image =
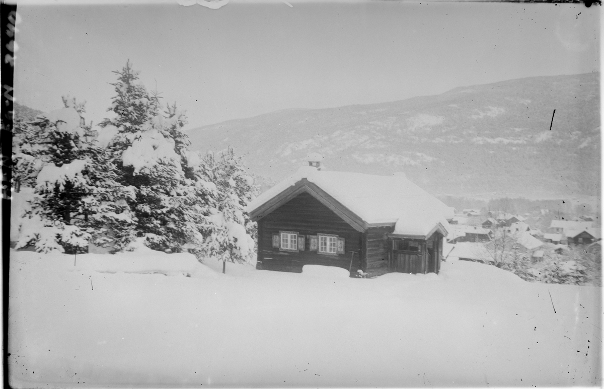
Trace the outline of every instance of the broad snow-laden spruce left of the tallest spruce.
<instances>
[{"instance_id":1,"label":"broad snow-laden spruce left of the tallest spruce","mask_svg":"<svg viewBox=\"0 0 604 389\"><path fill-rule=\"evenodd\" d=\"M91 143L90 126L82 118L84 105L67 98L63 103L65 108L33 121L39 158L46 164L37 173L17 248L86 252L90 242L105 242L106 228L117 230L131 223L131 215L115 203L127 193L115 182L104 150Z\"/></svg>"}]
</instances>

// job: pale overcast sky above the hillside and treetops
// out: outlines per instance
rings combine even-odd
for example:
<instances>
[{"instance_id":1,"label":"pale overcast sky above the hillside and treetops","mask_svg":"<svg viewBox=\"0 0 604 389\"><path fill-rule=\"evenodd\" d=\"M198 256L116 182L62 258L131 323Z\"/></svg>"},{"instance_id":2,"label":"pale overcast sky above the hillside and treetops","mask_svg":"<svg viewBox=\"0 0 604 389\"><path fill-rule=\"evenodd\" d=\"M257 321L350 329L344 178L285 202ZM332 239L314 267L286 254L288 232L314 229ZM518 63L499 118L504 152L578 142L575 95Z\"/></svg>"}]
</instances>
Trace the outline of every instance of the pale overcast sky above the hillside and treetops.
<instances>
[{"instance_id":1,"label":"pale overcast sky above the hillside and treetops","mask_svg":"<svg viewBox=\"0 0 604 389\"><path fill-rule=\"evenodd\" d=\"M600 69L597 6L289 3L21 5L16 99L49 111L69 94L98 123L111 71L130 59L148 89L187 110L191 128Z\"/></svg>"}]
</instances>

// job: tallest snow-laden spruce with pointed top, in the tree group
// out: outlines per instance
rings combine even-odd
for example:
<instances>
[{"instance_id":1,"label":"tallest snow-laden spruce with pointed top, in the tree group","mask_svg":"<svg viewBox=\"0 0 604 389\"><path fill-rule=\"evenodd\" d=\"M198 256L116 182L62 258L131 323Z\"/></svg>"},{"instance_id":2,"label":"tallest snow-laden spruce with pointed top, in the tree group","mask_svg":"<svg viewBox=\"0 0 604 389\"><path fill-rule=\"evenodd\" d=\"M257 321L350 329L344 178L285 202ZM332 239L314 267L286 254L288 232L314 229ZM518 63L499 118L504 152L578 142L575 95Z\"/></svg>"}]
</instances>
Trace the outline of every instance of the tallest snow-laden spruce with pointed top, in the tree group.
<instances>
[{"instance_id":1,"label":"tallest snow-laden spruce with pointed top, in the tree group","mask_svg":"<svg viewBox=\"0 0 604 389\"><path fill-rule=\"evenodd\" d=\"M129 231L114 234L114 251L128 249L137 238L152 249L195 251L207 233L207 204L215 187L204 184L196 166L199 156L188 152L184 112L176 104L163 107L130 63L115 73L116 95L109 111L116 116L101 126L116 133L108 150L118 180L133 193L124 202L135 223Z\"/></svg>"}]
</instances>

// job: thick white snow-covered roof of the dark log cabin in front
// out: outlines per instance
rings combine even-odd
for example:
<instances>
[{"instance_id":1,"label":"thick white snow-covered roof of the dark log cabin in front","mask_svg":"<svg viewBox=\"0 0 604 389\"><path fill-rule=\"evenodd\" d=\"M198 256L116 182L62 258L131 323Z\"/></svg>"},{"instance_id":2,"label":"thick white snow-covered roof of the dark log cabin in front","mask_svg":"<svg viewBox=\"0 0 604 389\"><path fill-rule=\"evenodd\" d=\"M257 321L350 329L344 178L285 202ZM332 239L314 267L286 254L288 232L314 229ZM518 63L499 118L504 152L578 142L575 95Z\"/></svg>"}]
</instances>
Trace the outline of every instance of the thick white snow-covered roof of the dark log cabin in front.
<instances>
[{"instance_id":1,"label":"thick white snow-covered roof of the dark log cabin in front","mask_svg":"<svg viewBox=\"0 0 604 389\"><path fill-rule=\"evenodd\" d=\"M312 166L300 167L292 176L255 198L247 208L248 213L259 210L304 179L367 225L395 224L394 234L426 236L439 224L446 231L446 219L453 217L451 208L402 175L330 172Z\"/></svg>"}]
</instances>

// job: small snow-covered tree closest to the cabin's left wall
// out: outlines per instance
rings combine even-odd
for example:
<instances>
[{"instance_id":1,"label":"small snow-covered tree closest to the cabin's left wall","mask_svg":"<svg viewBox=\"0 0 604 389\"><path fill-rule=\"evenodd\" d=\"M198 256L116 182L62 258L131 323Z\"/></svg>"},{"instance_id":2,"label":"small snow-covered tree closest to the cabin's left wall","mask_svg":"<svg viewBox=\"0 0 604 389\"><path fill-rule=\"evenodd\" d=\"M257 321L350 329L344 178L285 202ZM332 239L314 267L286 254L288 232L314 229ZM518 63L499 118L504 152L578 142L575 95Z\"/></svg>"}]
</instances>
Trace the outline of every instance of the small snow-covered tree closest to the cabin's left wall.
<instances>
[{"instance_id":1,"label":"small snow-covered tree closest to the cabin's left wall","mask_svg":"<svg viewBox=\"0 0 604 389\"><path fill-rule=\"evenodd\" d=\"M245 207L256 189L233 149L220 153L218 158L208 153L204 166L218 187L218 198L210 209L213 230L205 239L204 251L207 256L222 260L225 272L226 262L252 262L254 258L256 223L249 219Z\"/></svg>"}]
</instances>

